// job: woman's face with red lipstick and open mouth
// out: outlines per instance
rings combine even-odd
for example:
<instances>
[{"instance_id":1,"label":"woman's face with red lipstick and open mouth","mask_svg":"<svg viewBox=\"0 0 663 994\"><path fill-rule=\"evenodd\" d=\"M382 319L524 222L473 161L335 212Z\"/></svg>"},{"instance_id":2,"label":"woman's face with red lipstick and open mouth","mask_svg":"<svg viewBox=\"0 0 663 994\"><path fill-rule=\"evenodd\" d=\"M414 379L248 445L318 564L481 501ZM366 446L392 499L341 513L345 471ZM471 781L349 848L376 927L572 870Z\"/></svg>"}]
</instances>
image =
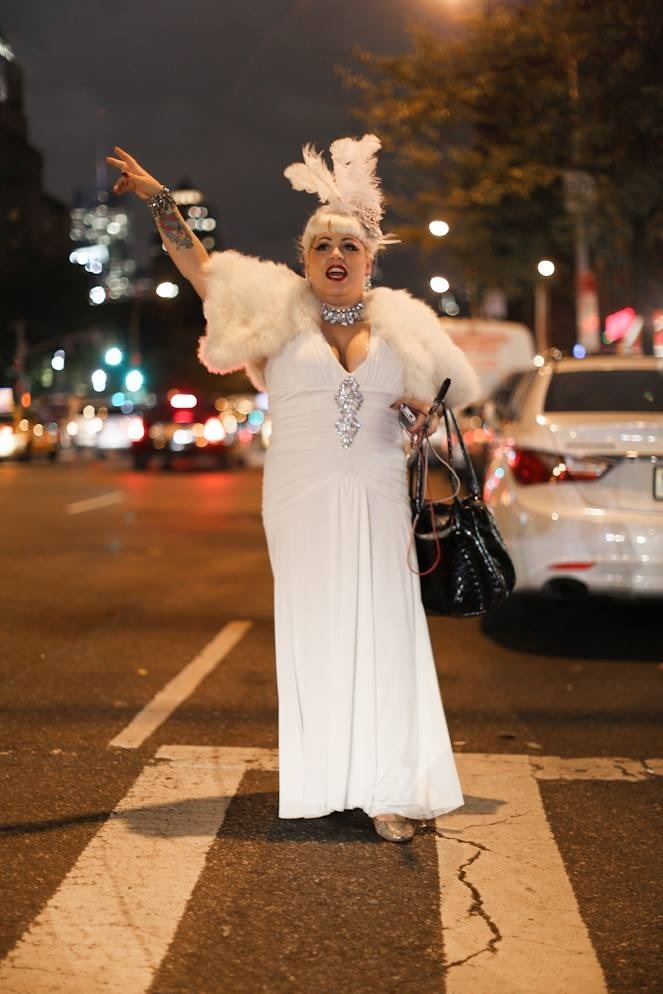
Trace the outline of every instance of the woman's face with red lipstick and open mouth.
<instances>
[{"instance_id":1,"label":"woman's face with red lipstick and open mouth","mask_svg":"<svg viewBox=\"0 0 663 994\"><path fill-rule=\"evenodd\" d=\"M306 273L319 300L346 307L363 297L371 264L366 247L358 238L330 231L313 239Z\"/></svg>"}]
</instances>

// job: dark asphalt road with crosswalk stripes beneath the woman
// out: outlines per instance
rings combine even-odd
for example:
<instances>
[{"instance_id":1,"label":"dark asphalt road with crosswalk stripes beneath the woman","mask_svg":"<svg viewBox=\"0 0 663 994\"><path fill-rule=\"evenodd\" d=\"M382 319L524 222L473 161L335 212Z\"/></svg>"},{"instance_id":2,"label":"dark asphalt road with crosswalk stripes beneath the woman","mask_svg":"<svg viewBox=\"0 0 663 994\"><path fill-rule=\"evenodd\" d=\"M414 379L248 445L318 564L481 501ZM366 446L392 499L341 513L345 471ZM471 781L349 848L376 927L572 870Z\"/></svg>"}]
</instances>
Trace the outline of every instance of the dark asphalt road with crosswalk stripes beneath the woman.
<instances>
[{"instance_id":1,"label":"dark asphalt road with crosswalk stripes beneath the woman","mask_svg":"<svg viewBox=\"0 0 663 994\"><path fill-rule=\"evenodd\" d=\"M277 817L258 470L7 463L0 521L0 994L663 990L663 602L431 619L466 805L400 847Z\"/></svg>"}]
</instances>

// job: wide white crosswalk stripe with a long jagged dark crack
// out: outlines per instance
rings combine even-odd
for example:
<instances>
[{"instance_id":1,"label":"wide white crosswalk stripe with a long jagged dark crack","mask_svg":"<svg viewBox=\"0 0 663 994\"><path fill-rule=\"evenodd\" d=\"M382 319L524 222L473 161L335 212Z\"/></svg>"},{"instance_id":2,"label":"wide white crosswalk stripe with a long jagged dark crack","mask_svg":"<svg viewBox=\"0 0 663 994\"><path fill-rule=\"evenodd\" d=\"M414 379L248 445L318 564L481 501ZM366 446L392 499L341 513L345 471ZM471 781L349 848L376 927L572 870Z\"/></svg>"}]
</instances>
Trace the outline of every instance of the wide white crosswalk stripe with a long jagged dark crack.
<instances>
[{"instance_id":1,"label":"wide white crosswalk stripe with a long jagged dark crack","mask_svg":"<svg viewBox=\"0 0 663 994\"><path fill-rule=\"evenodd\" d=\"M456 756L466 803L436 826L446 994L608 994L532 758ZM605 779L603 757L571 763Z\"/></svg>"}]
</instances>

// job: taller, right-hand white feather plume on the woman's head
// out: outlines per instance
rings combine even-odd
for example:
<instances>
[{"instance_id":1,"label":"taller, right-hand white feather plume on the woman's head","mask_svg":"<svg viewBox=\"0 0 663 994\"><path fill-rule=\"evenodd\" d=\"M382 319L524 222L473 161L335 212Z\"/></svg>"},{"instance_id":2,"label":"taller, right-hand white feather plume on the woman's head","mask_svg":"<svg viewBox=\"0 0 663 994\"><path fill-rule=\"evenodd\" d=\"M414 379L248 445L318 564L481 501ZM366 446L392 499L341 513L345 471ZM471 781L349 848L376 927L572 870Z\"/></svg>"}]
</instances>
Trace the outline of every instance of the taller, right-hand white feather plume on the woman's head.
<instances>
[{"instance_id":1,"label":"taller, right-hand white feather plume on the woman's head","mask_svg":"<svg viewBox=\"0 0 663 994\"><path fill-rule=\"evenodd\" d=\"M375 135L338 138L329 146L334 163L334 180L342 200L350 204L367 223L379 226L383 197L376 176L377 153L382 142Z\"/></svg>"}]
</instances>

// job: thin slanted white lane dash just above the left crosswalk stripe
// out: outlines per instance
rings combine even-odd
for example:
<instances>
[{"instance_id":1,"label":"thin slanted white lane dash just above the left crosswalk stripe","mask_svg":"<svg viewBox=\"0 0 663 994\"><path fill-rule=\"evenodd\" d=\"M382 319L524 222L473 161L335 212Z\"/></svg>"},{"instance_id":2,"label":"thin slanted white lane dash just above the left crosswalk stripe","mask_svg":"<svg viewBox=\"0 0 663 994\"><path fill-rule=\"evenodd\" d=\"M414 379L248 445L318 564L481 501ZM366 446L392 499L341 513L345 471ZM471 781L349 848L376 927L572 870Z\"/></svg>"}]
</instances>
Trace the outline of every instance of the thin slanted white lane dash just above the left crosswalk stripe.
<instances>
[{"instance_id":1,"label":"thin slanted white lane dash just above the left crosswalk stripe","mask_svg":"<svg viewBox=\"0 0 663 994\"><path fill-rule=\"evenodd\" d=\"M141 746L145 739L193 693L198 684L212 672L224 656L235 648L252 624L251 621L230 621L224 625L202 652L173 677L149 704L138 712L126 728L111 739L109 746L116 746L119 749L137 749Z\"/></svg>"}]
</instances>

